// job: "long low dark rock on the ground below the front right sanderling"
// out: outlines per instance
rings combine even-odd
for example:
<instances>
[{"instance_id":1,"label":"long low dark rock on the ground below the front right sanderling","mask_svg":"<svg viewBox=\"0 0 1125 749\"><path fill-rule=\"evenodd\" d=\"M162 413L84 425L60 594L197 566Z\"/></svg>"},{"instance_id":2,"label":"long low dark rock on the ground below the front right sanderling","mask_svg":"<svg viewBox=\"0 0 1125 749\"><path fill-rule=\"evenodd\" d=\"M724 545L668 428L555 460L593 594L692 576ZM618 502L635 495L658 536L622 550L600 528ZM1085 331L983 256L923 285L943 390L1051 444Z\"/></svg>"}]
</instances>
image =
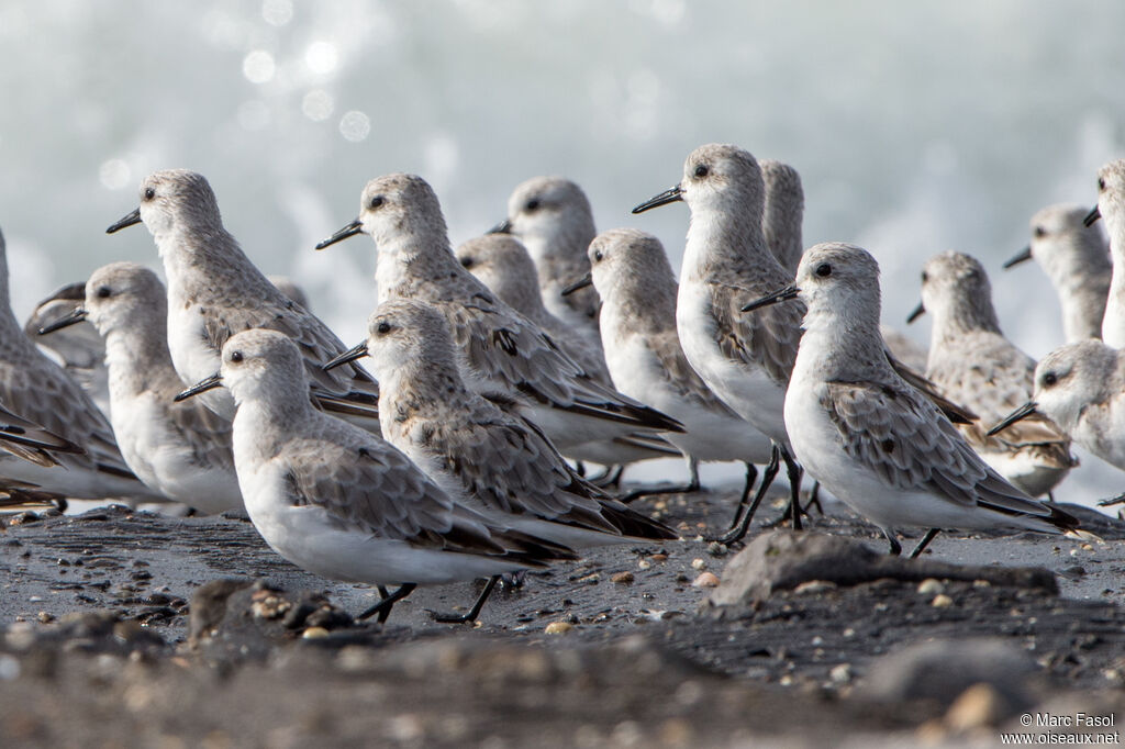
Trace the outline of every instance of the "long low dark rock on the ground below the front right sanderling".
<instances>
[{"instance_id":1,"label":"long low dark rock on the ground below the front right sanderling","mask_svg":"<svg viewBox=\"0 0 1125 749\"><path fill-rule=\"evenodd\" d=\"M872 551L861 541L838 535L777 530L756 538L723 569L709 606L749 605L775 590L825 580L854 586L881 578L921 581L926 578L988 580L992 585L1040 588L1058 593L1054 575L1037 567L950 565L906 559Z\"/></svg>"}]
</instances>

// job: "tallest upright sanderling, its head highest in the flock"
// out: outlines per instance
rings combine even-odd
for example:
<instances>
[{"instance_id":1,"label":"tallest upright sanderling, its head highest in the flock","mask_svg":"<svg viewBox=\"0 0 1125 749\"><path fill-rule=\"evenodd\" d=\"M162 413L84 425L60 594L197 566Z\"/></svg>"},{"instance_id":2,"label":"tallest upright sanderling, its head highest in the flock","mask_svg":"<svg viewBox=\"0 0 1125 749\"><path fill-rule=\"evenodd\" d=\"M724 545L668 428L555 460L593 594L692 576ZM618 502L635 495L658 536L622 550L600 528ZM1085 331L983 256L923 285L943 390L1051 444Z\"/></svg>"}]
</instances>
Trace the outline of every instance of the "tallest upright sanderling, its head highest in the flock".
<instances>
[{"instance_id":1,"label":"tallest upright sanderling, its head highest in the flock","mask_svg":"<svg viewBox=\"0 0 1125 749\"><path fill-rule=\"evenodd\" d=\"M684 179L633 208L634 214L683 200L691 209L676 330L688 363L735 413L774 441L791 486L789 513L800 527L801 468L785 433L785 388L801 339L800 305L740 313L744 304L790 280L762 233L765 184L757 161L732 145L688 154ZM777 472L772 458L764 491ZM745 533L749 513L738 530ZM734 540L734 538L731 539Z\"/></svg>"}]
</instances>

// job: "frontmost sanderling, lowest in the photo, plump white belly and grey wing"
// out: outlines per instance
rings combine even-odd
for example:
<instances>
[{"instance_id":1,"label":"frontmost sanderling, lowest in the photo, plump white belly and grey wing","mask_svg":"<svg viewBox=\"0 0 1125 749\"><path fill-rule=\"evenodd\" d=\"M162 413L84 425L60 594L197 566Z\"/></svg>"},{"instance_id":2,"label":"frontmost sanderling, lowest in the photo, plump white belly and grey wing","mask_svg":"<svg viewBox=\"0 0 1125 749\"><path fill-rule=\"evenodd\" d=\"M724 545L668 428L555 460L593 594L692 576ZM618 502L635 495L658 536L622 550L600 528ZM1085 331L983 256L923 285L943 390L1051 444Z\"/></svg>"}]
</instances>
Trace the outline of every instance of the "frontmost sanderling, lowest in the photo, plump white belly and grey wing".
<instances>
[{"instance_id":1,"label":"frontmost sanderling, lowest in the photo, plump white belly and grey wing","mask_svg":"<svg viewBox=\"0 0 1125 749\"><path fill-rule=\"evenodd\" d=\"M234 464L246 513L266 542L310 572L399 586L360 614L379 614L417 585L492 577L569 550L498 526L450 496L381 437L317 410L305 354L277 331L226 341L222 369L179 396L225 386L234 397Z\"/></svg>"}]
</instances>

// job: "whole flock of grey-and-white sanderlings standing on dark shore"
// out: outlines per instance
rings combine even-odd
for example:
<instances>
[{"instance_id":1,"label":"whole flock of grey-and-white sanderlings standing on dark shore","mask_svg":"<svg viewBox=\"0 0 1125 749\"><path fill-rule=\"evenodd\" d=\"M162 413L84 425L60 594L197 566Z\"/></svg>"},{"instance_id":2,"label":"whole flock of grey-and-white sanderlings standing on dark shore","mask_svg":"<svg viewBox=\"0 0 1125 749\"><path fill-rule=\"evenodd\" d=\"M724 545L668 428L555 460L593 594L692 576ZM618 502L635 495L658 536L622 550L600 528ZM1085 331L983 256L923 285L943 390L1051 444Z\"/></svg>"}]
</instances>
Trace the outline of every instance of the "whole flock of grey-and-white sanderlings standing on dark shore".
<instances>
[{"instance_id":1,"label":"whole flock of grey-and-white sanderlings standing on dark shore","mask_svg":"<svg viewBox=\"0 0 1125 749\"><path fill-rule=\"evenodd\" d=\"M112 263L20 327L0 262L0 491L244 508L286 559L378 586L362 615L380 621L418 584L489 578L447 617L470 621L500 575L676 539L624 502L698 489L700 461L747 466L728 543L782 464L794 526L808 472L893 553L903 526L928 531L914 554L939 529L1080 533L1035 497L1077 464L1071 440L1125 469L1125 161L1098 187L1092 211L1037 213L1006 264L1043 265L1071 342L1036 366L1001 334L981 264L947 252L911 316L934 318L922 374L880 327L875 260L802 252L796 171L736 146L696 148L633 209L687 204L678 285L656 237L596 234L568 180L520 184L507 218L456 252L422 178L371 180L359 217L317 245L375 241L379 304L352 349L250 262L206 179L156 172L108 232L143 223L166 288ZM667 455L687 460L687 486L611 493L620 467ZM584 461L618 469L588 479Z\"/></svg>"}]
</instances>

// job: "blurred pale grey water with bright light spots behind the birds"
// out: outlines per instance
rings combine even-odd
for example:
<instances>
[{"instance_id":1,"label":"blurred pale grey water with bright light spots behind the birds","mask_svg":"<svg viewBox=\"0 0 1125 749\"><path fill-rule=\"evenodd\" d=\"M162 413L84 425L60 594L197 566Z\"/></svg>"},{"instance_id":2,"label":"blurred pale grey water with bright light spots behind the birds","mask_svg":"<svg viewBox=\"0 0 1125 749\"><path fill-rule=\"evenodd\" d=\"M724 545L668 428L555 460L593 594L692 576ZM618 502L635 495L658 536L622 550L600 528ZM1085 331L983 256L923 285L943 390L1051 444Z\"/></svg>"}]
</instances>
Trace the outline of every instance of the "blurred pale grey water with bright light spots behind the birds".
<instances>
[{"instance_id":1,"label":"blurred pale grey water with bright light spots behind the birds","mask_svg":"<svg viewBox=\"0 0 1125 749\"><path fill-rule=\"evenodd\" d=\"M886 322L916 304L925 259L956 249L992 271L1006 332L1040 357L1062 341L1054 295L1036 268L1000 263L1036 209L1091 204L1097 168L1125 154L1123 28L1125 4L1091 0L6 0L14 306L107 262L156 264L143 228L104 229L147 172L183 166L210 179L251 258L295 276L351 341L374 245L312 246L354 217L369 178L424 175L459 242L521 180L562 173L600 227L654 232L675 263L686 208L629 208L720 141L801 171L806 244L871 250ZM1119 487L1086 463L1065 498Z\"/></svg>"}]
</instances>

